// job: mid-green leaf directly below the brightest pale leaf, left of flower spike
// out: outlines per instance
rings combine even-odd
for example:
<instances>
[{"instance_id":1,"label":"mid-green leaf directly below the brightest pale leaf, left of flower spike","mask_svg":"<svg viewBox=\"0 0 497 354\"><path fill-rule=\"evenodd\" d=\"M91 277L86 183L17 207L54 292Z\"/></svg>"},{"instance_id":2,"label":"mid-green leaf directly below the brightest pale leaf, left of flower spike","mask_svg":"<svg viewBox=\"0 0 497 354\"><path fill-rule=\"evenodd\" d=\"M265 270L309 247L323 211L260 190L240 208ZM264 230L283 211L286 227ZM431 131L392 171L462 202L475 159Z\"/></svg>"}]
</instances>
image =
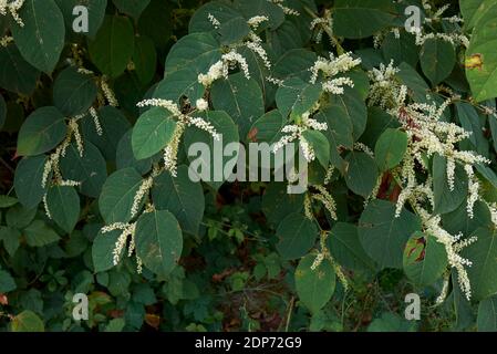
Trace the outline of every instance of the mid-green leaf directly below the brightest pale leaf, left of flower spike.
<instances>
[{"instance_id":1,"label":"mid-green leaf directly below the brightest pale leaf, left of flower spike","mask_svg":"<svg viewBox=\"0 0 497 354\"><path fill-rule=\"evenodd\" d=\"M106 225L132 219L133 200L142 181L142 176L134 168L120 169L108 176L99 198L100 212Z\"/></svg>"}]
</instances>

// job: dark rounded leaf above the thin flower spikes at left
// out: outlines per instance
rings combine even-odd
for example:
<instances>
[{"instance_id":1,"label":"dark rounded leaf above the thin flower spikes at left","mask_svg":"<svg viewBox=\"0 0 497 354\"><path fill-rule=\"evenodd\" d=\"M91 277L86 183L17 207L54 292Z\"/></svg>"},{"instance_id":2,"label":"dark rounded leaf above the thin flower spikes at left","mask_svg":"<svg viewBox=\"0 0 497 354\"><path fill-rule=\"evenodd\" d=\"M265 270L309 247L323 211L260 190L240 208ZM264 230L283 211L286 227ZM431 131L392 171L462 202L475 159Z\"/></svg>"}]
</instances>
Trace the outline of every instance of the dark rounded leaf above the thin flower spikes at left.
<instances>
[{"instance_id":1,"label":"dark rounded leaf above the thin flower spikes at left","mask_svg":"<svg viewBox=\"0 0 497 354\"><path fill-rule=\"evenodd\" d=\"M80 74L70 66L61 72L53 86L55 107L66 116L85 113L96 98L96 86L93 77Z\"/></svg>"}]
</instances>

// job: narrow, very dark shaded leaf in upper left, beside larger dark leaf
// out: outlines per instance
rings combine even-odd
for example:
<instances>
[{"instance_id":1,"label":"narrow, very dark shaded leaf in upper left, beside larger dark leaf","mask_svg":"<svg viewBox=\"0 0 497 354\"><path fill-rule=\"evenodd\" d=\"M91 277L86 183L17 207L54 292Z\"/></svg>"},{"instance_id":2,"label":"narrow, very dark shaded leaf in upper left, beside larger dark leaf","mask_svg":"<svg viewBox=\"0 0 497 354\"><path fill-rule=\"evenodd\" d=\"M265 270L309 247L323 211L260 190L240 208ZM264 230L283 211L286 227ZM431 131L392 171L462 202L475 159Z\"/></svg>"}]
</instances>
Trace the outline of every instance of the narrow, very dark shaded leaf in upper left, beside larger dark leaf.
<instances>
[{"instance_id":1,"label":"narrow, very dark shaded leaf in upper left, beside larger dark leaf","mask_svg":"<svg viewBox=\"0 0 497 354\"><path fill-rule=\"evenodd\" d=\"M154 79L157 67L157 52L155 51L154 41L148 37L141 35L135 39L133 63L142 84L148 84Z\"/></svg>"}]
</instances>

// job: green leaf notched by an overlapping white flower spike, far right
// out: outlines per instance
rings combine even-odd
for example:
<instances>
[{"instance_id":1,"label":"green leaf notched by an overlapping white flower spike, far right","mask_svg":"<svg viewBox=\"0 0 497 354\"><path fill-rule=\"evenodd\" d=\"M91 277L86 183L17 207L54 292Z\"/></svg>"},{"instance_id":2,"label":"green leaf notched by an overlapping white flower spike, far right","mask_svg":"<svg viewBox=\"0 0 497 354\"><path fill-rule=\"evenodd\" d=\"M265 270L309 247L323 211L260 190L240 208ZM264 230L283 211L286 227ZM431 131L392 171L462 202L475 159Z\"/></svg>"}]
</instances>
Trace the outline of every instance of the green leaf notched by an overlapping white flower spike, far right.
<instances>
[{"instance_id":1,"label":"green leaf notched by an overlapping white flower spike, far right","mask_svg":"<svg viewBox=\"0 0 497 354\"><path fill-rule=\"evenodd\" d=\"M456 210L467 196L467 176L463 167L456 165L454 190L447 181L447 160L436 154L433 157L433 192L435 195L435 214L447 214Z\"/></svg>"}]
</instances>

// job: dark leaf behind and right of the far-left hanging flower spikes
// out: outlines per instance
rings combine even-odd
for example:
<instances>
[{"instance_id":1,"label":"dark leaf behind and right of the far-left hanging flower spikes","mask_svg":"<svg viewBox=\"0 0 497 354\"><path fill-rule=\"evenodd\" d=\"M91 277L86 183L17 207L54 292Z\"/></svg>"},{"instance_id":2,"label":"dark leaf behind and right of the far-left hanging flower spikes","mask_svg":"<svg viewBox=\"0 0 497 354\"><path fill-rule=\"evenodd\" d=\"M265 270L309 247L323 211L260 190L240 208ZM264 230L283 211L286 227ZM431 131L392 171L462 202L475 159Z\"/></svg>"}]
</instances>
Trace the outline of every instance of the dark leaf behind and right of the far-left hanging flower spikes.
<instances>
[{"instance_id":1,"label":"dark leaf behind and right of the far-left hanging flower spikes","mask_svg":"<svg viewBox=\"0 0 497 354\"><path fill-rule=\"evenodd\" d=\"M90 142L84 142L83 157L75 144L68 147L61 158L61 171L64 178L81 183L80 192L96 198L107 178L107 166L100 150Z\"/></svg>"}]
</instances>

